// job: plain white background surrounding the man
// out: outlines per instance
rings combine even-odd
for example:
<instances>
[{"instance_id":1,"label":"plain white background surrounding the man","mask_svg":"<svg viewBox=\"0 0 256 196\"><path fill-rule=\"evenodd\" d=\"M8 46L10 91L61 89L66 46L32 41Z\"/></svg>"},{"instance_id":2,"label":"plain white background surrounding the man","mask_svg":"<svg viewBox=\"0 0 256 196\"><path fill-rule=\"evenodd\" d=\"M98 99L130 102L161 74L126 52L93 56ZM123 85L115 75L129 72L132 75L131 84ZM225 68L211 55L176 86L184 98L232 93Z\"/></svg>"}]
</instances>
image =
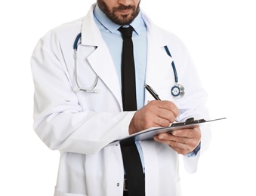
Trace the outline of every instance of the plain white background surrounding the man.
<instances>
[{"instance_id":1,"label":"plain white background surrounding the man","mask_svg":"<svg viewBox=\"0 0 256 196\"><path fill-rule=\"evenodd\" d=\"M32 130L30 56L48 30L85 16L94 0L5 1L0 6L1 195L53 195L58 152ZM195 174L180 163L184 196L256 195L253 0L141 2L159 26L187 45L208 91L212 141Z\"/></svg>"}]
</instances>

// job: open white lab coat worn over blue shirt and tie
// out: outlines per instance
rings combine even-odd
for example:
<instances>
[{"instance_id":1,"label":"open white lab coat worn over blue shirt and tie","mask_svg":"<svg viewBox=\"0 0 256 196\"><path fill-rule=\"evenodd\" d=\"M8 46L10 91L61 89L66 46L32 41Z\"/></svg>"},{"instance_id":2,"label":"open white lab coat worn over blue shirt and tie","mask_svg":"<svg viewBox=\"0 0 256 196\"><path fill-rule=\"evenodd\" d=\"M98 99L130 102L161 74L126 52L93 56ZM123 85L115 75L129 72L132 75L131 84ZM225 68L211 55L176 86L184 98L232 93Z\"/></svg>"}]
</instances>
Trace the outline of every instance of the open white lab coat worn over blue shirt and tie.
<instances>
[{"instance_id":1,"label":"open white lab coat worn over blue shirt and tie","mask_svg":"<svg viewBox=\"0 0 256 196\"><path fill-rule=\"evenodd\" d=\"M32 54L35 84L34 129L50 149L60 151L60 167L55 196L121 196L124 170L119 145L115 139L128 136L128 124L134 112L122 112L119 78L108 47L93 19L92 5L88 15L57 27L42 38ZM147 75L150 84L162 98L173 101L180 109L179 120L191 116L208 118L205 91L184 44L169 32L155 26L143 14L148 29ZM99 76L97 93L75 92L72 45L82 32L78 49L79 84L88 88ZM177 67L185 96L174 99L171 58ZM146 92L145 104L153 97ZM210 130L202 127L202 147L194 158L184 156L188 172L196 171L200 153L210 140ZM147 196L180 195L179 159L168 145L140 142L143 149Z\"/></svg>"}]
</instances>

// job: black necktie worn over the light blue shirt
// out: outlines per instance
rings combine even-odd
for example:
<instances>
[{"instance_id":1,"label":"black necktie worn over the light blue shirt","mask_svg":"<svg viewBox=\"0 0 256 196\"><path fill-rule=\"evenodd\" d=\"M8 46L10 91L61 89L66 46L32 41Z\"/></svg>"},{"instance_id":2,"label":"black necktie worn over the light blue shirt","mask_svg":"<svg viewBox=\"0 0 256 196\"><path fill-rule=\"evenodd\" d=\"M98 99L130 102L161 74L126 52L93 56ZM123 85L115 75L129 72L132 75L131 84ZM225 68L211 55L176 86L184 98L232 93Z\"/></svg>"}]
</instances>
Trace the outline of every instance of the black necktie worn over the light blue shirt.
<instances>
[{"instance_id":1,"label":"black necktie worn over the light blue shirt","mask_svg":"<svg viewBox=\"0 0 256 196\"><path fill-rule=\"evenodd\" d=\"M119 28L122 33L122 103L124 111L137 110L134 51L131 40L133 28ZM134 142L121 142L122 159L128 183L128 196L145 195L145 179L140 155Z\"/></svg>"}]
</instances>

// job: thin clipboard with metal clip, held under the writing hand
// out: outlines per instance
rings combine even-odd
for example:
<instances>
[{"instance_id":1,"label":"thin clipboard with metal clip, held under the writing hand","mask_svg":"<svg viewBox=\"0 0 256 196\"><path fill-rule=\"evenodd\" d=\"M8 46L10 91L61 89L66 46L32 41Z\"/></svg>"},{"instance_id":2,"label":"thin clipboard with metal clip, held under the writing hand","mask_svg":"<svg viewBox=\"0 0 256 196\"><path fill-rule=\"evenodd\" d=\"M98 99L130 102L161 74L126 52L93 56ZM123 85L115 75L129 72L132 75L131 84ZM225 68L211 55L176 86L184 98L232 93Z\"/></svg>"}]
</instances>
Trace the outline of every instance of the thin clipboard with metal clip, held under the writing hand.
<instances>
[{"instance_id":1,"label":"thin clipboard with metal clip, held under the writing hand","mask_svg":"<svg viewBox=\"0 0 256 196\"><path fill-rule=\"evenodd\" d=\"M185 122L173 123L171 124L170 127L153 127L147 130L142 130L138 133L134 133L125 138L116 139L113 142L110 142L109 145L118 145L119 143L122 143L125 145L131 142L150 140L150 139L153 139L153 137L158 135L159 133L171 133L173 130L196 128L204 124L209 124L213 121L220 121L224 119L226 118L217 118L217 119L205 121L204 119L194 120L192 118L189 118Z\"/></svg>"}]
</instances>

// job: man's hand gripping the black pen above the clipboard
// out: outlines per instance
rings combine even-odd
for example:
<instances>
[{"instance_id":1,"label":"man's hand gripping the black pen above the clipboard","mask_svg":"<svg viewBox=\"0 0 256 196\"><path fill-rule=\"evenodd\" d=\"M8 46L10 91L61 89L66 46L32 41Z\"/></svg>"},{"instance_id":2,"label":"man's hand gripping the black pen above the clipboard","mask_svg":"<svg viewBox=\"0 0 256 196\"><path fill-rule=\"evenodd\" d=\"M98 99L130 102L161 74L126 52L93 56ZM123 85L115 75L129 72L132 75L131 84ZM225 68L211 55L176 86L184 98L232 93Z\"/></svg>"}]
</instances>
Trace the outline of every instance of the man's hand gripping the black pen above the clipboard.
<instances>
[{"instance_id":1,"label":"man's hand gripping the black pen above the clipboard","mask_svg":"<svg viewBox=\"0 0 256 196\"><path fill-rule=\"evenodd\" d=\"M177 106L170 101L150 101L135 112L129 126L130 135L150 127L168 127L179 114Z\"/></svg>"}]
</instances>

